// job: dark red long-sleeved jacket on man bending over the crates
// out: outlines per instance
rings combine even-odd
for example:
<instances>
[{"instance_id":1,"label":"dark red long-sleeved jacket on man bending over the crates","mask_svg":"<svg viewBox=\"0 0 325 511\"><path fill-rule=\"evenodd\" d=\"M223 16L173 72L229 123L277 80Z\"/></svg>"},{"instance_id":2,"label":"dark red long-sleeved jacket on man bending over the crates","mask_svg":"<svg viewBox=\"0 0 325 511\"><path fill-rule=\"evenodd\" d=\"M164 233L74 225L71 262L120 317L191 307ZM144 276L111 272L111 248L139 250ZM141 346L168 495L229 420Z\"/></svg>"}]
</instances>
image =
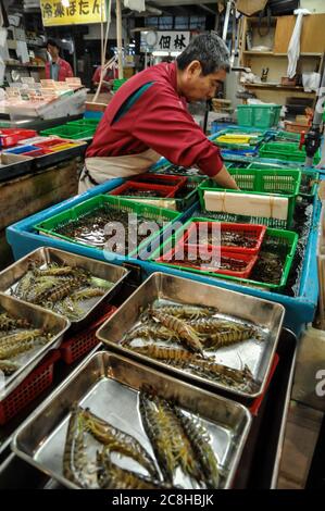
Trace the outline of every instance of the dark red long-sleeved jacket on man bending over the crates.
<instances>
[{"instance_id":1,"label":"dark red long-sleeved jacket on man bending over the crates","mask_svg":"<svg viewBox=\"0 0 325 511\"><path fill-rule=\"evenodd\" d=\"M125 101L152 85L115 121ZM188 113L176 89L176 64L159 64L130 78L108 105L86 157L120 157L155 150L175 165L214 176L223 166L218 149Z\"/></svg>"}]
</instances>

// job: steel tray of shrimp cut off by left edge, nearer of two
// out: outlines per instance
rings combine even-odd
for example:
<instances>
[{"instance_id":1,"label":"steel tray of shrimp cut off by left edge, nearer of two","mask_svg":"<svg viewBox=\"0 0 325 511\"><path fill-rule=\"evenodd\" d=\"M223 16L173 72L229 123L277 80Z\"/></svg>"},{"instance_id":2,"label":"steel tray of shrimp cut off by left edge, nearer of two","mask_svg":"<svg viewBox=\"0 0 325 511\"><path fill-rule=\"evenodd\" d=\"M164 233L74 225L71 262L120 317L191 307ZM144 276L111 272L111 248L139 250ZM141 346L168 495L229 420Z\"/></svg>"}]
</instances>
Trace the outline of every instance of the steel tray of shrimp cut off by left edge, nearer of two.
<instances>
[{"instance_id":1,"label":"steel tray of shrimp cut off by left edge, nearer of two","mask_svg":"<svg viewBox=\"0 0 325 511\"><path fill-rule=\"evenodd\" d=\"M21 364L21 367L11 376L4 376L4 386L3 388L2 385L0 386L0 400L3 400L23 382L48 351L61 345L63 335L70 327L70 321L54 312L16 300L2 292L0 292L0 312L8 312L13 317L25 319L35 328L43 328L53 334L52 339L45 346L21 353L13 359L14 362Z\"/></svg>"}]
</instances>

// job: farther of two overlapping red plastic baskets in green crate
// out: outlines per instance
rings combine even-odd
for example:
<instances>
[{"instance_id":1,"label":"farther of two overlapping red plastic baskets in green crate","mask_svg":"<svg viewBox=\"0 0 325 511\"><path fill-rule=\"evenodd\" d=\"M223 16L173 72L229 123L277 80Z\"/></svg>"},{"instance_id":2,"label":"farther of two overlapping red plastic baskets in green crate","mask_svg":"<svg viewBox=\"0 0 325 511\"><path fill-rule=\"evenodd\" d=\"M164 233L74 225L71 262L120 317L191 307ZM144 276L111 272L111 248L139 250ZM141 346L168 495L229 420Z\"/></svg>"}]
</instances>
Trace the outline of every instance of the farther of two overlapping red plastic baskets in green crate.
<instances>
[{"instance_id":1,"label":"farther of two overlapping red plastic baskets in green crate","mask_svg":"<svg viewBox=\"0 0 325 511\"><path fill-rule=\"evenodd\" d=\"M232 224L226 222L192 222L188 229L185 230L183 237L179 240L179 244L188 244L188 245L197 245L200 242L200 239L197 239L197 235L199 233L200 227L205 226L205 232L211 233L212 225L220 225L221 234L223 232L230 232L230 233L238 233L242 234L243 236L248 237L250 240L254 241L254 247L246 248L246 247L229 247L227 245L214 245L214 244L207 244L209 250L222 249L226 250L227 252L234 253L248 253L248 254L258 254L260 252L265 233L266 226L265 225L250 225L250 224ZM208 229L207 229L208 226ZM203 244L202 244L203 245ZM205 242L204 242L205 245Z\"/></svg>"}]
</instances>

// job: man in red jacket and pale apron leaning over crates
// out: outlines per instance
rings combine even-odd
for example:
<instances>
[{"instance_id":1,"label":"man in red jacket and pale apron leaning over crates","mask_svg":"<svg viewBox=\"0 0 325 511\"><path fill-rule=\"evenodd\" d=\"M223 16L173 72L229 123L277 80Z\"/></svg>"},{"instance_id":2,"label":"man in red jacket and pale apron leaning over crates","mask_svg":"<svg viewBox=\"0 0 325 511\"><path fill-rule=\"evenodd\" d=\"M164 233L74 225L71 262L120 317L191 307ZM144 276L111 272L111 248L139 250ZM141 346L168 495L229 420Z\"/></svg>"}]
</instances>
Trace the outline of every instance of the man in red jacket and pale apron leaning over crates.
<instances>
[{"instance_id":1,"label":"man in red jacket and pale apron leaning over crates","mask_svg":"<svg viewBox=\"0 0 325 511\"><path fill-rule=\"evenodd\" d=\"M174 63L160 63L128 79L115 94L86 152L79 194L115 177L141 174L161 155L198 166L225 188L237 188L218 148L196 124L186 101L213 98L229 70L216 35L200 35Z\"/></svg>"}]
</instances>

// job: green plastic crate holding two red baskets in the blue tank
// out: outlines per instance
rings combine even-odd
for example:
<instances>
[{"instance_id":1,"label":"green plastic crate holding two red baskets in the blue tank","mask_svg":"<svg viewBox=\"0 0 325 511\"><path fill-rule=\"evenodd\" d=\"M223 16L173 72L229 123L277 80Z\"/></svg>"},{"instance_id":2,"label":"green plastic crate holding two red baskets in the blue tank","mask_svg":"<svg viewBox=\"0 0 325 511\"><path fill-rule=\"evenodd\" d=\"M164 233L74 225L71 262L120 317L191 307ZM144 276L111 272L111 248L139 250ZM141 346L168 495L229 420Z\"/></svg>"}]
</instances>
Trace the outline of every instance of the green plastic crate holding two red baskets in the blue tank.
<instances>
[{"instance_id":1,"label":"green plastic crate holding two red baskets in the blue tank","mask_svg":"<svg viewBox=\"0 0 325 511\"><path fill-rule=\"evenodd\" d=\"M202 217L201 220L204 220L204 217ZM211 220L211 219L205 219L205 220ZM182 266L179 264L175 265L175 264L171 264L167 262L155 261L155 259L158 259L160 256L164 253L165 249L168 251L172 247L174 247L175 236L171 236L157 250L154 250L152 254L150 256L149 260L154 261L155 264L160 264L162 266L170 266L170 267L173 267L174 270L179 269L185 272L192 272L192 273L197 273L199 275L205 275L209 277L217 277L217 278L226 278L229 281L235 281L237 283L240 283L247 286L259 287L262 289L267 289L270 291L279 291L284 289L284 287L287 284L290 269L293 262L296 249L297 249L298 238L299 238L298 234L291 230L280 230L280 229L273 229L273 228L266 229L261 251L263 251L263 247L267 247L270 242L274 244L275 247L286 248L284 271L283 271L280 282L278 284L261 283L258 281L252 281L250 278L240 278L240 277L235 277L230 275L215 274L215 273L204 272L204 271L197 270L197 269L191 269L188 266Z\"/></svg>"}]
</instances>

